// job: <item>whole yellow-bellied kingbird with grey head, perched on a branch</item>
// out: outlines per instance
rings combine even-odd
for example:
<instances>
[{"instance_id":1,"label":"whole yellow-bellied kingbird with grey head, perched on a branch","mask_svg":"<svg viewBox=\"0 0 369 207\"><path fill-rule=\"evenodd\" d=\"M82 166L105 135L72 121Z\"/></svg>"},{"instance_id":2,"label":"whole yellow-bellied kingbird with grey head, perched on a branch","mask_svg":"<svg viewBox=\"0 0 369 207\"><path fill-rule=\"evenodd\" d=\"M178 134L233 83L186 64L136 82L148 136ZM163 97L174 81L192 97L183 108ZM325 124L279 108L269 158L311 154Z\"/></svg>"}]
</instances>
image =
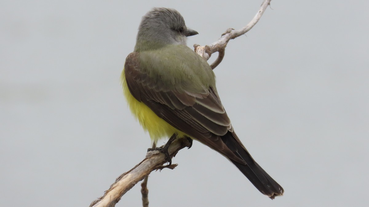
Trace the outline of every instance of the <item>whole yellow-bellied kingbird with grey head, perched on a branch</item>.
<instances>
[{"instance_id":1,"label":"whole yellow-bellied kingbird with grey head, perched on a branch","mask_svg":"<svg viewBox=\"0 0 369 207\"><path fill-rule=\"evenodd\" d=\"M142 17L134 52L122 72L124 95L151 139L190 137L228 158L271 199L283 188L246 150L235 134L215 87L215 75L186 46L198 34L171 8L153 8Z\"/></svg>"}]
</instances>

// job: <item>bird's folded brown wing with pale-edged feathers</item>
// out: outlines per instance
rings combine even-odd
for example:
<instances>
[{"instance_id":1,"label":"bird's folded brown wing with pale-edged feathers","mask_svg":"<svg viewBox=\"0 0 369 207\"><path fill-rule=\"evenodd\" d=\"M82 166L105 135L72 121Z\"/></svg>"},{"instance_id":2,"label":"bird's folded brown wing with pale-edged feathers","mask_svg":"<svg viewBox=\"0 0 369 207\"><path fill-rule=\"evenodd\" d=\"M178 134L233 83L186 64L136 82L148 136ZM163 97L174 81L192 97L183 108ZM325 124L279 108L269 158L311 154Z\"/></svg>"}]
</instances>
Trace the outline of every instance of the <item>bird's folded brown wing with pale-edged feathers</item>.
<instances>
[{"instance_id":1,"label":"bird's folded brown wing with pale-edged feathers","mask_svg":"<svg viewBox=\"0 0 369 207\"><path fill-rule=\"evenodd\" d=\"M138 52L131 53L125 62L125 78L131 94L176 129L231 160L245 164L220 138L228 131L233 132L233 129L215 85L202 89L191 89L187 83L168 85L161 78L153 78L151 71L145 68L148 64L141 64L140 55ZM235 139L241 144L238 138Z\"/></svg>"}]
</instances>

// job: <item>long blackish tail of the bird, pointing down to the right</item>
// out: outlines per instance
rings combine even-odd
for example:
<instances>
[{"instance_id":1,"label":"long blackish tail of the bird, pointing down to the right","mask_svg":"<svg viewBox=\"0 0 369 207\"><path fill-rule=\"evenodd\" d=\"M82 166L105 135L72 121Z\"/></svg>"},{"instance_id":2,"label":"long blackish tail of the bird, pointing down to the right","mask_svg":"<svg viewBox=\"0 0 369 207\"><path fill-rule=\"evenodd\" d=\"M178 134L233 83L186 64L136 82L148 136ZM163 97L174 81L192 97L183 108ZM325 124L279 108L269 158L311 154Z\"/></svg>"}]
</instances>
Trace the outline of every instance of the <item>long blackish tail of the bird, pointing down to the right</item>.
<instances>
[{"instance_id":1,"label":"long blackish tail of the bird, pointing down to the right","mask_svg":"<svg viewBox=\"0 0 369 207\"><path fill-rule=\"evenodd\" d=\"M244 165L230 159L261 193L269 196L271 199L283 194L283 188L252 159L241 142L237 141L239 139L235 133L228 131L227 134L221 136L221 139L237 157L246 162L246 165Z\"/></svg>"}]
</instances>

